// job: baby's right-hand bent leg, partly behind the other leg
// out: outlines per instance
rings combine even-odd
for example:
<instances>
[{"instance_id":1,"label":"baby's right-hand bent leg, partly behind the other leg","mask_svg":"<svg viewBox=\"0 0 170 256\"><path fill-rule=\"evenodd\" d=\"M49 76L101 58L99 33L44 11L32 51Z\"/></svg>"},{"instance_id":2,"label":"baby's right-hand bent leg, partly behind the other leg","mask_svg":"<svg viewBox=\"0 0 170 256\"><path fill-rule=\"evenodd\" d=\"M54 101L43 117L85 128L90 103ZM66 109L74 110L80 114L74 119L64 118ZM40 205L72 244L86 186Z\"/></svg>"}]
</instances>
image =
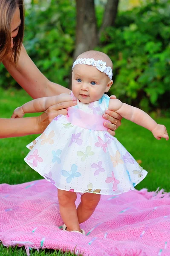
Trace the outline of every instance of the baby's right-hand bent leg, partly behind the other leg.
<instances>
[{"instance_id":1,"label":"baby's right-hand bent leg, partly behind the other leg","mask_svg":"<svg viewBox=\"0 0 170 256\"><path fill-rule=\"evenodd\" d=\"M95 211L100 198L101 195L88 192L81 196L81 203L77 208L77 216L80 224L90 218L90 216Z\"/></svg>"}]
</instances>

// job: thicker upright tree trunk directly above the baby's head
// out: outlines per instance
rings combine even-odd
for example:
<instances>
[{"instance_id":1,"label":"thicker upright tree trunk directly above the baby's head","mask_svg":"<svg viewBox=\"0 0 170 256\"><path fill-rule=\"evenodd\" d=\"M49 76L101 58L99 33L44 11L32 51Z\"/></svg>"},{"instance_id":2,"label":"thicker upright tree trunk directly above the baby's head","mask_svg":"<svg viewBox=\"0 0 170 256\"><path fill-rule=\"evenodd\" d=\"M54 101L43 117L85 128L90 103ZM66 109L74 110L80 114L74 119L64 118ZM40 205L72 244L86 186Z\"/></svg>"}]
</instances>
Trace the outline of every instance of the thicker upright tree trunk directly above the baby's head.
<instances>
[{"instance_id":1,"label":"thicker upright tree trunk directly above the baby's head","mask_svg":"<svg viewBox=\"0 0 170 256\"><path fill-rule=\"evenodd\" d=\"M76 0L77 26L74 60L98 43L94 0Z\"/></svg>"}]
</instances>

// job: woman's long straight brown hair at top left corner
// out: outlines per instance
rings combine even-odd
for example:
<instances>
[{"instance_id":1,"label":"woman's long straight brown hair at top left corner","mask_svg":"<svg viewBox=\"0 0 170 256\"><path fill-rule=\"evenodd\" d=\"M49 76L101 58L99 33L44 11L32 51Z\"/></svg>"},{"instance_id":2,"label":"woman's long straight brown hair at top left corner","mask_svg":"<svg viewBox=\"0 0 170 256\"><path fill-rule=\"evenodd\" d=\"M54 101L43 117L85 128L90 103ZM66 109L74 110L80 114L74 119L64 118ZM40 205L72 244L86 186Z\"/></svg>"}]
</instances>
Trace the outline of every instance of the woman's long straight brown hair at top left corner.
<instances>
[{"instance_id":1,"label":"woman's long straight brown hair at top left corner","mask_svg":"<svg viewBox=\"0 0 170 256\"><path fill-rule=\"evenodd\" d=\"M11 22L16 8L20 9L21 25L17 36L13 39L11 49ZM10 54L11 62L17 63L23 43L24 3L23 0L0 0L0 62Z\"/></svg>"}]
</instances>

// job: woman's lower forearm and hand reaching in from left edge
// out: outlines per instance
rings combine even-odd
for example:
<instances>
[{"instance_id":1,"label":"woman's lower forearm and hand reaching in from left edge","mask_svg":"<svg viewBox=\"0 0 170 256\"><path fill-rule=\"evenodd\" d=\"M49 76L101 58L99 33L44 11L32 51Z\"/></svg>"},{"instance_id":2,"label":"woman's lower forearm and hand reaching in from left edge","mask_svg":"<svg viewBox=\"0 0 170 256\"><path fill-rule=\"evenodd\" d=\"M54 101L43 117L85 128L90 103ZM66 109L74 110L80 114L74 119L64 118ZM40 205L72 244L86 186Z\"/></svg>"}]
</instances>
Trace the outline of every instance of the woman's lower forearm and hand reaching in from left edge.
<instances>
[{"instance_id":1,"label":"woman's lower forearm and hand reaching in from left edge","mask_svg":"<svg viewBox=\"0 0 170 256\"><path fill-rule=\"evenodd\" d=\"M46 129L55 116L66 115L67 110L65 108L71 106L73 106L73 101L62 102L49 107L43 114L37 117L17 119L0 118L0 138L40 134Z\"/></svg>"}]
</instances>

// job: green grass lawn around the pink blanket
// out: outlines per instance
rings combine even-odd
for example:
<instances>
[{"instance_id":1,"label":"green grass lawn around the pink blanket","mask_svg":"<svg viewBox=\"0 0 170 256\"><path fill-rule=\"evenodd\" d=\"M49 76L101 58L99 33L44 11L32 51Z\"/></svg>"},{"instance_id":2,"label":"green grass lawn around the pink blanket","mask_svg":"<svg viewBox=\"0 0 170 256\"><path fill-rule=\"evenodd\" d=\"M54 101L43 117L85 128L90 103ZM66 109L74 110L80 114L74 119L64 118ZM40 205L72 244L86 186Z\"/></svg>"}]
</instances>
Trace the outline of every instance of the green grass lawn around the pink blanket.
<instances>
[{"instance_id":1,"label":"green grass lawn around the pink blanket","mask_svg":"<svg viewBox=\"0 0 170 256\"><path fill-rule=\"evenodd\" d=\"M31 98L23 90L0 89L0 117L9 118L13 110ZM156 119L160 124L167 127L170 133L170 119ZM28 153L26 145L34 140L37 135L26 137L7 138L0 140L0 180L1 183L17 184L37 180L42 178L37 172L32 170L23 158ZM149 191L155 191L158 187L170 191L170 142L161 139L156 140L150 131L140 127L127 120L122 121L121 127L116 131L116 137L125 148L135 157L141 160L141 166L148 171L147 177L136 186L136 189L147 188ZM1 245L0 255L14 255L15 249L6 249ZM24 254L23 249L16 249L17 255ZM63 255L58 252L45 251L36 254L33 251L31 255ZM59 252L60 253L60 252ZM70 256L71 254L68 254Z\"/></svg>"}]
</instances>

